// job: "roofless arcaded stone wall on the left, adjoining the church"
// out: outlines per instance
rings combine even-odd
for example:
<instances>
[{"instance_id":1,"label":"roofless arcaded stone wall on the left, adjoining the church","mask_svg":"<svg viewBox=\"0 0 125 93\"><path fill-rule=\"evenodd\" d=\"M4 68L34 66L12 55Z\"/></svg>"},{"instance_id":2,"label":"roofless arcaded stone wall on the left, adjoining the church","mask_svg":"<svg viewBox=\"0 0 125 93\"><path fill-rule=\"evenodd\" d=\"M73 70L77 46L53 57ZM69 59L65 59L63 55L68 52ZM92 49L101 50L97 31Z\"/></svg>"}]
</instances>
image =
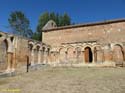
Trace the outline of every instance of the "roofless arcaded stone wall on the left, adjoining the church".
<instances>
[{"instance_id":1,"label":"roofless arcaded stone wall on the left, adjoining the church","mask_svg":"<svg viewBox=\"0 0 125 93\"><path fill-rule=\"evenodd\" d=\"M26 66L27 62L31 65L41 64L48 48L42 42L0 32L0 72L6 69L14 71L20 66Z\"/></svg>"}]
</instances>

